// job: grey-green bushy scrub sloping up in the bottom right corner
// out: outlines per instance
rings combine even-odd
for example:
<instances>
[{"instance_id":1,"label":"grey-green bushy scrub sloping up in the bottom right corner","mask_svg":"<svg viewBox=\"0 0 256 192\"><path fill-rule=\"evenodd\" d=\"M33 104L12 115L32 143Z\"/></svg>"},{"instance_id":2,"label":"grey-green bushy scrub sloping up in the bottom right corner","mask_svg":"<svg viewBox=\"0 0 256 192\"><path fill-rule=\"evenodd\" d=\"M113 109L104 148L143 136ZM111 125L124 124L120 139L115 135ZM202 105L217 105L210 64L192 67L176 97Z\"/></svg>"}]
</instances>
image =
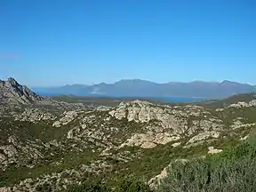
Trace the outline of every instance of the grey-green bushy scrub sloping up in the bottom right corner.
<instances>
[{"instance_id":1,"label":"grey-green bushy scrub sloping up in the bottom right corner","mask_svg":"<svg viewBox=\"0 0 256 192\"><path fill-rule=\"evenodd\" d=\"M173 163L160 192L255 191L255 138L187 164Z\"/></svg>"}]
</instances>

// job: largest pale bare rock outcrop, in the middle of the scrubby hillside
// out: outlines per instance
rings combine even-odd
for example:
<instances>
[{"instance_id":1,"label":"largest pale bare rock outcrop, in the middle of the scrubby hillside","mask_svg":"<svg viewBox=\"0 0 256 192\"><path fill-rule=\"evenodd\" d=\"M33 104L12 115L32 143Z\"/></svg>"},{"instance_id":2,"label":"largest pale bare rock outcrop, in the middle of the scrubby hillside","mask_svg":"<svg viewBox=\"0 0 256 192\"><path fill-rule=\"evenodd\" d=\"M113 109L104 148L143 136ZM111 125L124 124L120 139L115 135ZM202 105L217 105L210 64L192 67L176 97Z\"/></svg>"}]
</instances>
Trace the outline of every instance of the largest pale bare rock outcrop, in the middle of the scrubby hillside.
<instances>
[{"instance_id":1,"label":"largest pale bare rock outcrop, in the middle of the scrubby hillside","mask_svg":"<svg viewBox=\"0 0 256 192\"><path fill-rule=\"evenodd\" d=\"M211 114L209 115L209 112L199 106L172 108L135 100L125 104L121 103L108 114L116 119L126 118L128 122L145 124L143 133L133 134L121 147L155 148L156 145L165 145L197 133L189 140L189 143L194 143L210 137L218 138L218 132L223 128L223 122L219 118L210 117ZM195 120L189 120L189 118Z\"/></svg>"}]
</instances>

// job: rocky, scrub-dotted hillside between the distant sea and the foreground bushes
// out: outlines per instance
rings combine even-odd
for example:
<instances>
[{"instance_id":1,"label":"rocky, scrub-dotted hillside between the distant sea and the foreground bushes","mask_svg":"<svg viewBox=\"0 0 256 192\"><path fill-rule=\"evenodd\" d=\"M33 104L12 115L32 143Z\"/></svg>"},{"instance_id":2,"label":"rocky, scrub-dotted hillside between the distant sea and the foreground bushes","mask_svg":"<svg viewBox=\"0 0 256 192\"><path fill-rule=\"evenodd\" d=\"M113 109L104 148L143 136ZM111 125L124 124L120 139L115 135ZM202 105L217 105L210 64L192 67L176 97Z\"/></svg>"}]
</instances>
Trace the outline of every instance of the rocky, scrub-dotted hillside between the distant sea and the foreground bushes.
<instances>
[{"instance_id":1,"label":"rocky, scrub-dotted hillside between the distant sea and the foreground bushes","mask_svg":"<svg viewBox=\"0 0 256 192\"><path fill-rule=\"evenodd\" d=\"M65 191L83 179L115 191L128 178L157 191L173 160L220 153L256 127L256 98L223 108L141 100L88 108L45 100L11 82L1 83L4 100L27 101L13 101L22 108L0 117L0 191Z\"/></svg>"}]
</instances>

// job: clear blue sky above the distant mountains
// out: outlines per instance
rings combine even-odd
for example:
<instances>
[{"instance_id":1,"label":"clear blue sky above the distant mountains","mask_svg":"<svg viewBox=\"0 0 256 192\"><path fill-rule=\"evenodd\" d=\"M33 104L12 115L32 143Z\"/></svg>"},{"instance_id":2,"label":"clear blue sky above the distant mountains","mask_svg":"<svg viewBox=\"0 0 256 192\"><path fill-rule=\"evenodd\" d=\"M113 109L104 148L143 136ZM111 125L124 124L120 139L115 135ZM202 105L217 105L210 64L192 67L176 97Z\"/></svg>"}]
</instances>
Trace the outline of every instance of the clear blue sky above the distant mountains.
<instances>
[{"instance_id":1,"label":"clear blue sky above the distant mountains","mask_svg":"<svg viewBox=\"0 0 256 192\"><path fill-rule=\"evenodd\" d=\"M256 84L255 0L1 0L0 79Z\"/></svg>"}]
</instances>

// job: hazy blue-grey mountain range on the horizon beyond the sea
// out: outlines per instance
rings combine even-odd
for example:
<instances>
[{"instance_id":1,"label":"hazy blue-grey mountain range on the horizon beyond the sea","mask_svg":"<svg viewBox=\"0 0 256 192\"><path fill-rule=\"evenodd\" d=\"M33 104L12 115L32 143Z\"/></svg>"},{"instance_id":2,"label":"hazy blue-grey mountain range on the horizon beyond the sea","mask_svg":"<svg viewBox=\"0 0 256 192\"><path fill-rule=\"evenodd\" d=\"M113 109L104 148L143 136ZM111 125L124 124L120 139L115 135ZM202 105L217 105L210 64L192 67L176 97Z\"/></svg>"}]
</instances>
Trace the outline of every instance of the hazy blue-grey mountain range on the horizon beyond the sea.
<instances>
[{"instance_id":1,"label":"hazy blue-grey mountain range on the horizon beyond the sea","mask_svg":"<svg viewBox=\"0 0 256 192\"><path fill-rule=\"evenodd\" d=\"M171 82L156 84L154 82L132 79L121 80L115 84L71 84L60 87L34 87L32 90L44 96L71 94L76 96L112 96L112 97L186 97L201 99L223 99L232 95L256 92L250 84L231 81L189 83Z\"/></svg>"}]
</instances>

